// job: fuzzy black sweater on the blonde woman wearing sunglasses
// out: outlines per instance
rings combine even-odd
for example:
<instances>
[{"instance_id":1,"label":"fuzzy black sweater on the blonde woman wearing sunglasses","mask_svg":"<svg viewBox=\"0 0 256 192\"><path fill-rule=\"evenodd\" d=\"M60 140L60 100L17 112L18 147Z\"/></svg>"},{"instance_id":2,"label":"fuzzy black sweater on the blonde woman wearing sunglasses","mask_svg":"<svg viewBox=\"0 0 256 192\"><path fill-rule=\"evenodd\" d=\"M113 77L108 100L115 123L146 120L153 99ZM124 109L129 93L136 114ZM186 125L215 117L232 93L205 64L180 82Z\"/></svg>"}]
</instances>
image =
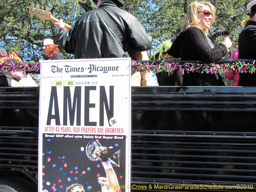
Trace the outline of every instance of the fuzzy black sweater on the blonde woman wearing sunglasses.
<instances>
[{"instance_id":1,"label":"fuzzy black sweater on the blonde woman wearing sunglasses","mask_svg":"<svg viewBox=\"0 0 256 192\"><path fill-rule=\"evenodd\" d=\"M220 43L211 48L204 32L196 27L188 28L180 33L173 42L169 55L181 60L198 60L213 63L227 54L227 48ZM224 86L219 75L189 72L183 75L183 86Z\"/></svg>"}]
</instances>

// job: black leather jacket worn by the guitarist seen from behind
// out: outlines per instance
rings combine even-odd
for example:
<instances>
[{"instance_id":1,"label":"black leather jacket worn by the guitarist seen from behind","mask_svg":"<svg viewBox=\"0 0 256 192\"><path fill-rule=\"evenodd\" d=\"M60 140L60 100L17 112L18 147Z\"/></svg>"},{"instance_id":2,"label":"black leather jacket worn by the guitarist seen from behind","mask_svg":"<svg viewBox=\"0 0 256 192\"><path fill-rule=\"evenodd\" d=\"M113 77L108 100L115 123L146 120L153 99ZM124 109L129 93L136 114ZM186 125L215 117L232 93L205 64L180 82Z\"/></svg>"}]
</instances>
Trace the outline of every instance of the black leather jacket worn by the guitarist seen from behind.
<instances>
[{"instance_id":1,"label":"black leather jacket worn by the guitarist seen from behind","mask_svg":"<svg viewBox=\"0 0 256 192\"><path fill-rule=\"evenodd\" d=\"M114 20L132 50L141 52L151 48L152 37L131 13L118 8L112 1L103 1L98 9L104 9ZM60 28L59 42L67 53L75 55L75 59L130 57L95 10L84 13L71 30Z\"/></svg>"}]
</instances>

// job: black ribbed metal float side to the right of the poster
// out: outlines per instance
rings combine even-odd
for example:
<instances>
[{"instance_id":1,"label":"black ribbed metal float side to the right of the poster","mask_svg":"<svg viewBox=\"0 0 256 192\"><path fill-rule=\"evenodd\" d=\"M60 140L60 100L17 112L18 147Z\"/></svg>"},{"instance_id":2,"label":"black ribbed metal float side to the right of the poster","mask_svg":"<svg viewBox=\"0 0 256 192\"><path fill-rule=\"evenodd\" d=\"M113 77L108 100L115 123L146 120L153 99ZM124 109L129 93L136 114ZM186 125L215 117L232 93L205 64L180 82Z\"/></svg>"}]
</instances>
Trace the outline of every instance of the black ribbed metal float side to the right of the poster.
<instances>
[{"instance_id":1,"label":"black ribbed metal float side to the right of the poster","mask_svg":"<svg viewBox=\"0 0 256 192\"><path fill-rule=\"evenodd\" d=\"M132 90L134 187L209 191L206 185L246 185L243 190L255 190L256 95L241 87L233 92L228 88ZM169 188L164 189L166 185ZM202 187L185 188L195 185Z\"/></svg>"}]
</instances>

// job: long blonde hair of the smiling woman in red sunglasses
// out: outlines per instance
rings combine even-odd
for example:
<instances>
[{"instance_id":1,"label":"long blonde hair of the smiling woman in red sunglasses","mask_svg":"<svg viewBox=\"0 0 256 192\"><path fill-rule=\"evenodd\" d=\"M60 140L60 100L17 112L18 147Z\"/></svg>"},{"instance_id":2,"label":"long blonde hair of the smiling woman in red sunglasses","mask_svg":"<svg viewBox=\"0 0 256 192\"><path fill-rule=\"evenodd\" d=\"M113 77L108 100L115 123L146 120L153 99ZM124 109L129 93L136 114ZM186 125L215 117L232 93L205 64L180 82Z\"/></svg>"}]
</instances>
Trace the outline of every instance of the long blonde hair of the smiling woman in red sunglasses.
<instances>
[{"instance_id":1,"label":"long blonde hair of the smiling woman in red sunglasses","mask_svg":"<svg viewBox=\"0 0 256 192\"><path fill-rule=\"evenodd\" d=\"M204 32L204 34L206 36L208 35L209 30L202 28L202 26L200 25L200 20L198 19L198 11L204 5L209 6L211 9L209 11L212 13L212 21L211 21L211 25L212 25L212 23L215 21L216 7L211 3L207 3L207 2L203 2L203 1L199 1L199 2L194 1L193 3L188 5L187 16L186 16L184 24L181 28L181 31L184 31L185 29L190 28L190 27L197 27L199 29L202 29L202 31Z\"/></svg>"}]
</instances>

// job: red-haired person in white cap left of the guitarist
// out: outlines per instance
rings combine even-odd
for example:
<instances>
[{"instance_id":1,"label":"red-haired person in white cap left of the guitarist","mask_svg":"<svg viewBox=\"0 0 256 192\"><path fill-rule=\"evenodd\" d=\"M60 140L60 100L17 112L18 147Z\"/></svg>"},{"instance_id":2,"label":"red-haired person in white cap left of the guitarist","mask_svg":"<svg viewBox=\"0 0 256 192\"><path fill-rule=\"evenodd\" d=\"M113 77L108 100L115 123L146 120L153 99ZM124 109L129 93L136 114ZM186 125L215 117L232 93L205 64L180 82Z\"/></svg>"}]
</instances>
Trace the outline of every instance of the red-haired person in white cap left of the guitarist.
<instances>
[{"instance_id":1,"label":"red-haired person in white cap left of the guitarist","mask_svg":"<svg viewBox=\"0 0 256 192\"><path fill-rule=\"evenodd\" d=\"M55 44L53 44L52 39L44 39L42 47L40 47L39 51L44 52L44 54L47 56L45 60L64 59L63 56L60 54L59 48Z\"/></svg>"}]
</instances>

